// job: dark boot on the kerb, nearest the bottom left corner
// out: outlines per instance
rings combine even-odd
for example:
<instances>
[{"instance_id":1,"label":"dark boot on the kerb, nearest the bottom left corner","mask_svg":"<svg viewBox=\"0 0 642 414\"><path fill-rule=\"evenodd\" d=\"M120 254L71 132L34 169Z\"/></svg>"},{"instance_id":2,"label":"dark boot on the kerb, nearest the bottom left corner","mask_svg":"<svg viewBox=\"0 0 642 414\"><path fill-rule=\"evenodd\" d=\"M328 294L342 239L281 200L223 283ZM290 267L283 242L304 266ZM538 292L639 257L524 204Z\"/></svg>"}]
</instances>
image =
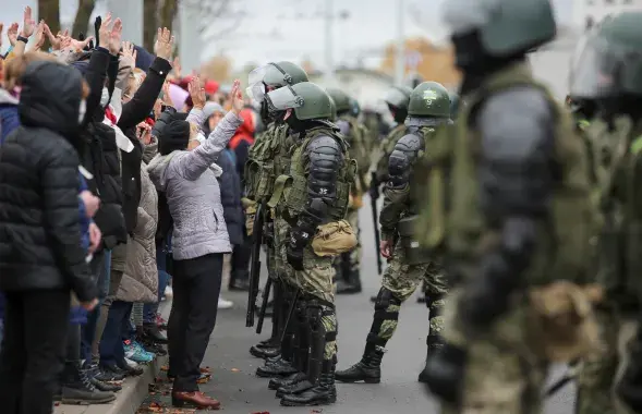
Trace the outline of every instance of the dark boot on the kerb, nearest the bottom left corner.
<instances>
[{"instance_id":1,"label":"dark boot on the kerb, nearest the bottom left corner","mask_svg":"<svg viewBox=\"0 0 642 414\"><path fill-rule=\"evenodd\" d=\"M98 391L81 370L76 362L68 362L64 366L61 402L63 404L89 405L107 404L116 400L113 392Z\"/></svg>"}]
</instances>

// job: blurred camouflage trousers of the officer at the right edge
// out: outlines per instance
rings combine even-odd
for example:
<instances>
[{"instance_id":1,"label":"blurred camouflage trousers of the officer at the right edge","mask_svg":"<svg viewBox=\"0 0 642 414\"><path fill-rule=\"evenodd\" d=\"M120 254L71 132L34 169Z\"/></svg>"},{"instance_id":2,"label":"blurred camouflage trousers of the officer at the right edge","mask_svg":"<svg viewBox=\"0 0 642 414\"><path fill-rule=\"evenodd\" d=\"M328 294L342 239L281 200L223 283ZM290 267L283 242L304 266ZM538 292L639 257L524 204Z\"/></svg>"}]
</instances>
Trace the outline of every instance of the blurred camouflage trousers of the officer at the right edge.
<instances>
[{"instance_id":1,"label":"blurred camouflage trousers of the officer at the right edge","mask_svg":"<svg viewBox=\"0 0 642 414\"><path fill-rule=\"evenodd\" d=\"M578 378L578 414L632 414L616 394L630 362L629 345L638 332L639 322L634 314L615 310L596 310L603 353L582 362Z\"/></svg>"}]
</instances>

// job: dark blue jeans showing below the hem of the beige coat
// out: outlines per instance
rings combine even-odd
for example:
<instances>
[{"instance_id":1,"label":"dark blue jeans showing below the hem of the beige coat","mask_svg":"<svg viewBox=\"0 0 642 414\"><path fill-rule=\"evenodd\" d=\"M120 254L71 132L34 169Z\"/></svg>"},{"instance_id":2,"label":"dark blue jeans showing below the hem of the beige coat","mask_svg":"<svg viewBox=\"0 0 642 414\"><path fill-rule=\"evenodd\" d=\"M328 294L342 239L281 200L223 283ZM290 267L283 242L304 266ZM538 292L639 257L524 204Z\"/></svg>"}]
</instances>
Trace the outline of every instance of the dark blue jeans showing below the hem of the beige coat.
<instances>
[{"instance_id":1,"label":"dark blue jeans showing below the hem of the beige coat","mask_svg":"<svg viewBox=\"0 0 642 414\"><path fill-rule=\"evenodd\" d=\"M114 365L124 362L125 351L122 339L129 332L123 332L124 321L129 324L132 313L132 302L113 301L109 308L105 331L100 339L100 365Z\"/></svg>"}]
</instances>

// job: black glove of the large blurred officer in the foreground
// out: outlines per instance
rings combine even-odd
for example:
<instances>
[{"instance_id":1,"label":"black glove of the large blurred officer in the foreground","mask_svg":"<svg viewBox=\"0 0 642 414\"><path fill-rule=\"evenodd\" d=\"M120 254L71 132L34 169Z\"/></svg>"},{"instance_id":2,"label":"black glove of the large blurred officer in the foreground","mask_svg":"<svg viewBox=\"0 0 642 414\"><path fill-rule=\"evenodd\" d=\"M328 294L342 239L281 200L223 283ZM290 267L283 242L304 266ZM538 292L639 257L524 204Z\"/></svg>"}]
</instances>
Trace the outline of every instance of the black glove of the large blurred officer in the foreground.
<instances>
[{"instance_id":1,"label":"black glove of the large blurred officer in the foreground","mask_svg":"<svg viewBox=\"0 0 642 414\"><path fill-rule=\"evenodd\" d=\"M428 390L448 404L461 404L467 357L465 350L445 343L426 362Z\"/></svg>"}]
</instances>

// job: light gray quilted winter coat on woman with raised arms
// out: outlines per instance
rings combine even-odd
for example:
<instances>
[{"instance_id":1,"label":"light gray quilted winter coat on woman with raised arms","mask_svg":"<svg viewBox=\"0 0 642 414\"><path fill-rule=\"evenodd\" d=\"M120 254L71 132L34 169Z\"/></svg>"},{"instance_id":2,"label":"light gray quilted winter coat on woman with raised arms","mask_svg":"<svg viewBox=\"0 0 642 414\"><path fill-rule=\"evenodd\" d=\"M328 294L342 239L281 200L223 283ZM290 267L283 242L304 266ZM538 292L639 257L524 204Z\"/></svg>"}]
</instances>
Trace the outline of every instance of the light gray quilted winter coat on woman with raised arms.
<instances>
[{"instance_id":1,"label":"light gray quilted winter coat on woman with raised arms","mask_svg":"<svg viewBox=\"0 0 642 414\"><path fill-rule=\"evenodd\" d=\"M201 125L202 114L201 110L192 110L187 121ZM191 151L157 155L147 167L154 185L165 193L174 221L172 249L177 260L232 251L220 188L209 166L216 162L242 121L228 112L205 143Z\"/></svg>"}]
</instances>

